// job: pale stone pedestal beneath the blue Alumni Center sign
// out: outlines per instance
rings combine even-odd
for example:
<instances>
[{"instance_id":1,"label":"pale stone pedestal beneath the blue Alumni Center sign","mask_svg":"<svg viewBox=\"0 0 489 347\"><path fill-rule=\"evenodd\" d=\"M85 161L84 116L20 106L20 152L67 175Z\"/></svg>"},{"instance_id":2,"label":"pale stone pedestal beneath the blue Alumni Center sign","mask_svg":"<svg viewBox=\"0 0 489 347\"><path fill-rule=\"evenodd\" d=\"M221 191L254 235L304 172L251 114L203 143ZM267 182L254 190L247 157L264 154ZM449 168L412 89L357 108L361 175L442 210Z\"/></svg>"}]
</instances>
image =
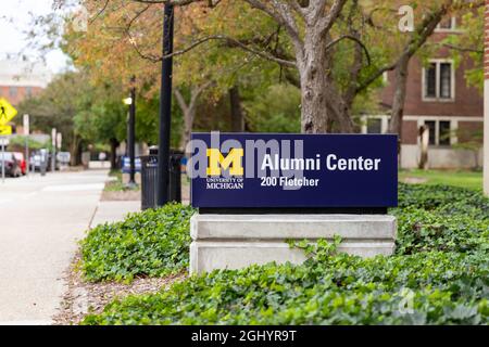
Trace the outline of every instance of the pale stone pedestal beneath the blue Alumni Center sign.
<instances>
[{"instance_id":1,"label":"pale stone pedestal beneath the blue Alumni Center sign","mask_svg":"<svg viewBox=\"0 0 489 347\"><path fill-rule=\"evenodd\" d=\"M190 273L239 269L271 261L300 264L301 249L285 240L331 240L362 257L391 255L396 218L388 215L195 215L190 220Z\"/></svg>"}]
</instances>

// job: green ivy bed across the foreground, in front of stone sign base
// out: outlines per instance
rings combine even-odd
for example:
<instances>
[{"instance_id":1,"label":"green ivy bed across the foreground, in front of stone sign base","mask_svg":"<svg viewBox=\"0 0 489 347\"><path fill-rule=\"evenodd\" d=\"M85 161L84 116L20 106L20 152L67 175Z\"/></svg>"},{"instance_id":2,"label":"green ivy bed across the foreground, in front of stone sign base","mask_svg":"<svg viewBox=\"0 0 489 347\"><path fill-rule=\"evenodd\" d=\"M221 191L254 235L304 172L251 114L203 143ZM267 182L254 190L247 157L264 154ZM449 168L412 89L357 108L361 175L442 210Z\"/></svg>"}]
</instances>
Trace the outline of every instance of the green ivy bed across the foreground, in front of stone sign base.
<instances>
[{"instance_id":1,"label":"green ivy bed across the foreground, in front of stone sign base","mask_svg":"<svg viewBox=\"0 0 489 347\"><path fill-rule=\"evenodd\" d=\"M115 300L84 324L487 324L486 254L371 259L321 242L301 266L214 271Z\"/></svg>"}]
</instances>

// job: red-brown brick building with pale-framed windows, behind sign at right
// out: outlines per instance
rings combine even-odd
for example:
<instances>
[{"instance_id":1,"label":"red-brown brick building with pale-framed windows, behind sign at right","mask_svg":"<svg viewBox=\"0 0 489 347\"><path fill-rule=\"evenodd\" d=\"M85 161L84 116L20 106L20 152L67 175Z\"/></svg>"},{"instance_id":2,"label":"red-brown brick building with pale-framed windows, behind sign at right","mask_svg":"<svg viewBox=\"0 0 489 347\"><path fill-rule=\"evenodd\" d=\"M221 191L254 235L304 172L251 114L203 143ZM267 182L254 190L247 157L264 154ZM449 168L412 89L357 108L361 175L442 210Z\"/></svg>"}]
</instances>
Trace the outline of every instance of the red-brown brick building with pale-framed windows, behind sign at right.
<instances>
[{"instance_id":1,"label":"red-brown brick building with pale-framed windows, behind sign at right","mask_svg":"<svg viewBox=\"0 0 489 347\"><path fill-rule=\"evenodd\" d=\"M443 21L431 40L440 41L447 35L456 35L456 22L455 17ZM450 50L443 47L427 61L412 59L402 129L403 168L418 166L419 128L423 125L429 128L430 168L473 168L482 165L484 98L477 88L467 86L464 77L465 70L472 67L471 59L455 66ZM387 131L394 78L393 73L385 75L386 87L380 99L386 114L365 117L362 132ZM468 142L472 144L467 145Z\"/></svg>"}]
</instances>

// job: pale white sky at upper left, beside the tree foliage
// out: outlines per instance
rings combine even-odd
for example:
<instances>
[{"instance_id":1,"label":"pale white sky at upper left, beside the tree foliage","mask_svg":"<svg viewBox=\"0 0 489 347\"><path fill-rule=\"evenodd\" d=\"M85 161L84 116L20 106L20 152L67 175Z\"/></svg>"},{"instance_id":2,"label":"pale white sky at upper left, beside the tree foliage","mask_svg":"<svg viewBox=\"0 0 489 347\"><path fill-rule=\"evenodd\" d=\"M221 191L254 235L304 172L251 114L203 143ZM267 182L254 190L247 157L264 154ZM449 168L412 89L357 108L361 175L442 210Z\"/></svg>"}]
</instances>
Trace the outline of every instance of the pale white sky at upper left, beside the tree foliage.
<instances>
[{"instance_id":1,"label":"pale white sky at upper left, beside the tree foliage","mask_svg":"<svg viewBox=\"0 0 489 347\"><path fill-rule=\"evenodd\" d=\"M53 0L2 0L0 11L0 59L8 54L26 53L29 61L38 61L40 54L26 50L28 40L25 31L29 29L32 14L42 15L52 12ZM11 23L12 22L12 23ZM42 39L42 38L40 38ZM46 54L46 64L53 73L67 66L67 56L61 50Z\"/></svg>"}]
</instances>

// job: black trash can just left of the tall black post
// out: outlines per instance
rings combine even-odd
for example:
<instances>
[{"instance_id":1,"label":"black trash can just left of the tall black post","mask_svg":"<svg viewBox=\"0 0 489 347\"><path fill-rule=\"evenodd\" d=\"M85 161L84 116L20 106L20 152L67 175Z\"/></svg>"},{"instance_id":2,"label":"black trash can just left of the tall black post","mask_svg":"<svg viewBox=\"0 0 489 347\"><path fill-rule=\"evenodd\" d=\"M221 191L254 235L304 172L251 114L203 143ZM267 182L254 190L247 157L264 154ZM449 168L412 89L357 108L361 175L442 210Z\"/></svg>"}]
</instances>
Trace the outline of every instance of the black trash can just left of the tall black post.
<instances>
[{"instance_id":1,"label":"black trash can just left of the tall black post","mask_svg":"<svg viewBox=\"0 0 489 347\"><path fill-rule=\"evenodd\" d=\"M141 209L156 207L158 155L141 156Z\"/></svg>"}]
</instances>

